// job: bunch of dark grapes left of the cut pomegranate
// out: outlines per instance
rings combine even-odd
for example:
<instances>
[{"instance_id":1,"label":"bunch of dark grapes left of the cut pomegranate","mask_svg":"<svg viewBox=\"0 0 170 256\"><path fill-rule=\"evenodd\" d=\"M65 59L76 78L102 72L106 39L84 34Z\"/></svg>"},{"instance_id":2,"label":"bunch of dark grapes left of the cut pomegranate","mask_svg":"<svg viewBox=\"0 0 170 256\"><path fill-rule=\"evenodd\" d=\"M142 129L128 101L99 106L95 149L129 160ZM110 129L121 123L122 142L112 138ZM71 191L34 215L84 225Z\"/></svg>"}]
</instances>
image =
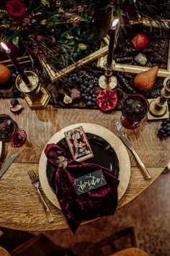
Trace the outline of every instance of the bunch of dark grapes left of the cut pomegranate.
<instances>
[{"instance_id":1,"label":"bunch of dark grapes left of the cut pomegranate","mask_svg":"<svg viewBox=\"0 0 170 256\"><path fill-rule=\"evenodd\" d=\"M81 95L86 100L87 106L95 106L97 95L94 91L95 85L94 76L86 76L81 82Z\"/></svg>"}]
</instances>

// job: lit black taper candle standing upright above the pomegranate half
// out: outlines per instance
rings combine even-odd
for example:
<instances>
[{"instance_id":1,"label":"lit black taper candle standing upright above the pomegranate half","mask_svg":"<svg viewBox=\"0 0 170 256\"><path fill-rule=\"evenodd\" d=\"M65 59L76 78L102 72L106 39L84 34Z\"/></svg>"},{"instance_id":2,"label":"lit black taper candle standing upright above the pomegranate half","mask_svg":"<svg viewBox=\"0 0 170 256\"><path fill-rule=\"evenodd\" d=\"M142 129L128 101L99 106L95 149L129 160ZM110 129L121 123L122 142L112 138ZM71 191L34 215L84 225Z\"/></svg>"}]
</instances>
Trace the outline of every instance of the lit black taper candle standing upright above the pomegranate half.
<instances>
[{"instance_id":1,"label":"lit black taper candle standing upright above the pomegranate half","mask_svg":"<svg viewBox=\"0 0 170 256\"><path fill-rule=\"evenodd\" d=\"M115 46L115 31L116 31L117 22L119 22L119 19L116 19L112 22L112 26L110 29L109 48L108 48L108 54L107 54L107 67L112 66L113 52L114 52L114 46Z\"/></svg>"}]
</instances>

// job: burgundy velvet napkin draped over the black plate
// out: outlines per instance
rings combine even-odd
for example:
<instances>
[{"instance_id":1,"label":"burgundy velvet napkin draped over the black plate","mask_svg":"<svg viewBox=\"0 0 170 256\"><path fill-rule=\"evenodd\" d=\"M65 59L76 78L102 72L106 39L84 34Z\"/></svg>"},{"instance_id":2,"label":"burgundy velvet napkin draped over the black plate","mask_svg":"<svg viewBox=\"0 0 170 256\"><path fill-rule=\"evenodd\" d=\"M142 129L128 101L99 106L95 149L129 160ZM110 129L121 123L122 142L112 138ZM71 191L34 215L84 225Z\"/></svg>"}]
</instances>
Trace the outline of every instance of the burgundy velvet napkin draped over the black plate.
<instances>
[{"instance_id":1,"label":"burgundy velvet napkin draped over the black plate","mask_svg":"<svg viewBox=\"0 0 170 256\"><path fill-rule=\"evenodd\" d=\"M78 162L72 159L66 159L68 164L66 168L59 167L58 157L66 158L66 153L54 143L46 146L45 155L48 161L56 166L55 193L73 233L76 232L82 221L115 213L119 180L112 175L111 170L95 163ZM99 168L102 169L107 184L79 195L73 180L91 174Z\"/></svg>"}]
</instances>

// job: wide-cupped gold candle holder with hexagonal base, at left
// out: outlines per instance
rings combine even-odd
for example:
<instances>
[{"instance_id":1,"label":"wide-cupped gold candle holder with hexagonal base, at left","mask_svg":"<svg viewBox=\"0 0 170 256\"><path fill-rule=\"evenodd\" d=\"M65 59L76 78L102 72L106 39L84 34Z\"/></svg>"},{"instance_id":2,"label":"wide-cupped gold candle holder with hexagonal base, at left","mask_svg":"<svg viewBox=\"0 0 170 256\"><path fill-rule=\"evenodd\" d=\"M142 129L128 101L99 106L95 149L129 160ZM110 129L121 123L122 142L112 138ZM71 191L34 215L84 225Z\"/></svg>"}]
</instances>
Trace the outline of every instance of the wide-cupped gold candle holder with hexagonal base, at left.
<instances>
[{"instance_id":1,"label":"wide-cupped gold candle holder with hexagonal base, at left","mask_svg":"<svg viewBox=\"0 0 170 256\"><path fill-rule=\"evenodd\" d=\"M19 74L15 82L17 89L24 93L24 100L31 109L45 108L50 100L50 93L44 86L40 85L39 78L35 72L25 71L24 73L30 80L30 84L26 85Z\"/></svg>"}]
</instances>

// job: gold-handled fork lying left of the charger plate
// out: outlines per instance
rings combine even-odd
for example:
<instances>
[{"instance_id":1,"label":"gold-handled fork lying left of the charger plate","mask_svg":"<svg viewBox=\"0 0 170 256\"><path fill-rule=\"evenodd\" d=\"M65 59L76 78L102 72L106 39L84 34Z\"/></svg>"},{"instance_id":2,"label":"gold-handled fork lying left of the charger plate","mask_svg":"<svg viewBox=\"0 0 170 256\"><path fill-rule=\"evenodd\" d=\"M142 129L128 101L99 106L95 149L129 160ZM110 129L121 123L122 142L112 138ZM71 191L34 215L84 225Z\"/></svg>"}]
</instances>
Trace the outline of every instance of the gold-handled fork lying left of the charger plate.
<instances>
[{"instance_id":1,"label":"gold-handled fork lying left of the charger plate","mask_svg":"<svg viewBox=\"0 0 170 256\"><path fill-rule=\"evenodd\" d=\"M42 197L40 189L39 189L40 180L37 178L37 175L35 174L35 172L33 170L28 171L28 175L30 176L32 184L35 186L35 188L37 189L38 194L40 195L40 199L41 199L42 205L45 208L45 212L46 212L46 216L48 218L48 222L50 222L50 223L53 222L54 221L53 216L51 215L50 209L48 208L48 205L46 204L45 200L43 200L43 197Z\"/></svg>"}]
</instances>

